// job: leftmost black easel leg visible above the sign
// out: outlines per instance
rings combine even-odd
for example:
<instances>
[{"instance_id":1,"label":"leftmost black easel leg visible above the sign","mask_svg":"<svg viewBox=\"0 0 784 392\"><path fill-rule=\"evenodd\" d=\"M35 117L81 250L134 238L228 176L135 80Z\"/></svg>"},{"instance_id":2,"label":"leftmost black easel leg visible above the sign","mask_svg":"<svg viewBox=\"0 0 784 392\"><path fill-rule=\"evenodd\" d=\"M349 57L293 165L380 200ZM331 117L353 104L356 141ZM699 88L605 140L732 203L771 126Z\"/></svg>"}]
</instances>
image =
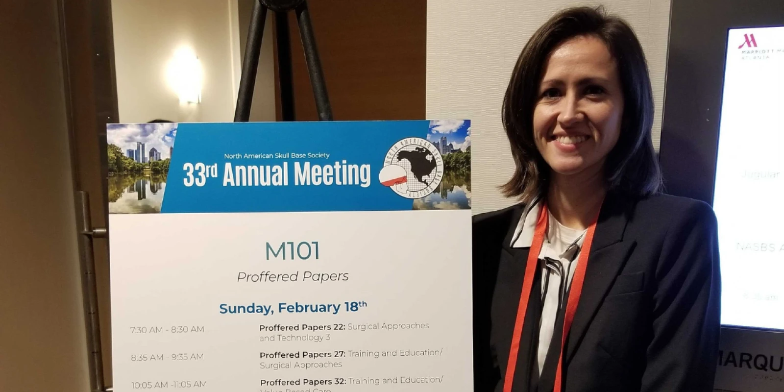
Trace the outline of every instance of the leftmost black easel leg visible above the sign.
<instances>
[{"instance_id":1,"label":"leftmost black easel leg visible above the sign","mask_svg":"<svg viewBox=\"0 0 784 392\"><path fill-rule=\"evenodd\" d=\"M256 72L259 71L261 38L264 34L264 20L266 19L267 7L256 0L253 2L248 42L245 42L245 58L242 59L242 75L237 95L237 107L234 108L234 122L248 122L250 118L250 105L253 100L253 88L256 86Z\"/></svg>"}]
</instances>

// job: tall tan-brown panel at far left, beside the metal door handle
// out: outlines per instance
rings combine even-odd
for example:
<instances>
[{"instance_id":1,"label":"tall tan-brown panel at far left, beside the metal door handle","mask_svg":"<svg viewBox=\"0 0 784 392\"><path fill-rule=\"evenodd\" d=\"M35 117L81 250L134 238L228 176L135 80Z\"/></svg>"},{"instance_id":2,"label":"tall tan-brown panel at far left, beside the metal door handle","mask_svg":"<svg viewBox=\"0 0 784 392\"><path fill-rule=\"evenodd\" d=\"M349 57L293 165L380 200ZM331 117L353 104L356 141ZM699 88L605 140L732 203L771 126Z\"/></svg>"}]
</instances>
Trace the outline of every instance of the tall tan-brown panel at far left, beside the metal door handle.
<instances>
[{"instance_id":1,"label":"tall tan-brown panel at far left, beside the metal door handle","mask_svg":"<svg viewBox=\"0 0 784 392\"><path fill-rule=\"evenodd\" d=\"M89 390L55 0L0 13L0 390Z\"/></svg>"}]
</instances>

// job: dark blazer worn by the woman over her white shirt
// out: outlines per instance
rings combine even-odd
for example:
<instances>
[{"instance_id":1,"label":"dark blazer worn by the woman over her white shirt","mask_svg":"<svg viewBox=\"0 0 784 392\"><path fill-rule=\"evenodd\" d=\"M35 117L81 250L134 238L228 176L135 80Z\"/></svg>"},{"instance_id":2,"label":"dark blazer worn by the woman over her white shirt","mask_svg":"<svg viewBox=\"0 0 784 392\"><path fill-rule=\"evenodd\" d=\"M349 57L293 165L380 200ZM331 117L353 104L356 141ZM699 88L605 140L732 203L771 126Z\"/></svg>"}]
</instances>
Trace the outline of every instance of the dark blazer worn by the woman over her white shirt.
<instances>
[{"instance_id":1,"label":"dark blazer worn by the woman over her white shirt","mask_svg":"<svg viewBox=\"0 0 784 392\"><path fill-rule=\"evenodd\" d=\"M474 217L477 391L503 388L528 256L528 248L510 246L523 209ZM565 343L564 392L711 392L720 330L717 241L716 216L702 201L608 194ZM525 323L514 392L553 390L554 366L548 372L546 362L541 380L532 372L532 324Z\"/></svg>"}]
</instances>

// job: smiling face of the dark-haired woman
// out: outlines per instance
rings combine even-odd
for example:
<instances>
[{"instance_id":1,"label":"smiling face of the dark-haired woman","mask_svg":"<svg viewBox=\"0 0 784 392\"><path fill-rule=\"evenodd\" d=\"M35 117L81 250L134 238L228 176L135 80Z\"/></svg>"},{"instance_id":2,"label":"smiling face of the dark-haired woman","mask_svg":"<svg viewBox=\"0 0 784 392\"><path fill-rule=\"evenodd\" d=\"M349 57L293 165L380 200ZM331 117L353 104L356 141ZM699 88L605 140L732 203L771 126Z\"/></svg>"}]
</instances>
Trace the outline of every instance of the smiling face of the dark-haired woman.
<instances>
[{"instance_id":1,"label":"smiling face of the dark-haired woman","mask_svg":"<svg viewBox=\"0 0 784 392\"><path fill-rule=\"evenodd\" d=\"M539 154L555 173L593 175L615 147L623 114L618 66L599 38L558 45L546 63L533 115Z\"/></svg>"}]
</instances>

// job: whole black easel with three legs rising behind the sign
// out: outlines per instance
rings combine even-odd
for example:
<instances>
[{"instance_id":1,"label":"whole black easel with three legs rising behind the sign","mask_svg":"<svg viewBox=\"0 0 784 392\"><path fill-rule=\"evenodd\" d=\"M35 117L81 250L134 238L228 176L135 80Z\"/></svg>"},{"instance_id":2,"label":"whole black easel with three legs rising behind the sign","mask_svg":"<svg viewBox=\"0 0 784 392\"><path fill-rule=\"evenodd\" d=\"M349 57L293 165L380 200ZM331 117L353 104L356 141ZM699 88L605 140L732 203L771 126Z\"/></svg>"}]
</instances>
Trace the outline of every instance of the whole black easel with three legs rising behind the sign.
<instances>
[{"instance_id":1,"label":"whole black easel with three legs rising behind the sign","mask_svg":"<svg viewBox=\"0 0 784 392\"><path fill-rule=\"evenodd\" d=\"M318 119L331 121L332 107L329 105L324 72L321 71L321 61L318 59L316 38L313 34L313 26L310 24L307 0L255 0L248 31L248 41L245 43L245 58L242 60L242 76L237 96L237 107L234 110L234 122L248 122L250 117L250 106L253 100L253 87L256 85L256 71L259 68L261 39L264 32L264 20L267 19L267 9L271 9L275 13L282 120L294 121L294 88L288 19L288 12L294 10L296 12L297 24L299 24L299 35L302 38L305 60L307 61L307 71L310 74L310 85L313 86L313 95L316 99Z\"/></svg>"}]
</instances>

